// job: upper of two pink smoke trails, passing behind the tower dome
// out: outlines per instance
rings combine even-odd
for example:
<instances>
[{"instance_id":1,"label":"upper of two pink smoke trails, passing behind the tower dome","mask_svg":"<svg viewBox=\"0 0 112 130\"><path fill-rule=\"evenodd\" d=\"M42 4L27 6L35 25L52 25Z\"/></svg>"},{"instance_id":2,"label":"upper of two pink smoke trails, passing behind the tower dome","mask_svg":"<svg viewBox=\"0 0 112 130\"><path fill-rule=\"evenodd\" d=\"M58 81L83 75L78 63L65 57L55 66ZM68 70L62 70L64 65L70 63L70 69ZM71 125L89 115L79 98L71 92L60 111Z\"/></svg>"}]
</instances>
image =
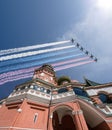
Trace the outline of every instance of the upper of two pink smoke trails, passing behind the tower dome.
<instances>
[{"instance_id":1,"label":"upper of two pink smoke trails, passing behind the tower dome","mask_svg":"<svg viewBox=\"0 0 112 130\"><path fill-rule=\"evenodd\" d=\"M65 64L65 63L77 62L77 61L81 61L81 60L85 60L85 59L88 59L88 57L77 58L77 59L73 59L73 60L67 60L67 61L64 61L64 62L58 62L58 63L54 63L54 64L51 64L51 65L55 67L55 66L59 66L59 65ZM37 69L37 66L31 67L31 68L26 68L26 69L21 69L21 70L9 71L7 73L0 74L0 79L3 79L5 77L11 77L11 76L14 76L14 75L23 74L23 73L33 72L35 69Z\"/></svg>"}]
</instances>

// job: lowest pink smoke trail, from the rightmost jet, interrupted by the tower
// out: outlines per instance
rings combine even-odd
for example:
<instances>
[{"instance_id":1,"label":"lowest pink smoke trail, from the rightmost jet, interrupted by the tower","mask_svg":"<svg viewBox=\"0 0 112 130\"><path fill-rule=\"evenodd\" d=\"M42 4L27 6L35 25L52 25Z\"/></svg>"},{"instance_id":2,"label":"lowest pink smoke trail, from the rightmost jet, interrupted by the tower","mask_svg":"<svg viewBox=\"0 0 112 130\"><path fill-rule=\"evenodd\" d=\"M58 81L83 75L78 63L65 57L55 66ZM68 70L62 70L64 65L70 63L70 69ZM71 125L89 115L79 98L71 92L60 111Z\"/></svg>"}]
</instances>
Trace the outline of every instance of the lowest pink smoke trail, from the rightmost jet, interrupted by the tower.
<instances>
[{"instance_id":1,"label":"lowest pink smoke trail, from the rightmost jet, interrupted by the tower","mask_svg":"<svg viewBox=\"0 0 112 130\"><path fill-rule=\"evenodd\" d=\"M55 67L54 69L55 69L55 71L60 71L60 70L64 70L64 69L68 69L68 68L71 68L71 67L76 67L76 66L80 66L80 65L84 65L84 64L88 64L88 63L92 63L92 62L94 62L94 61L84 61L84 62L80 62L80 63L64 65L64 66L61 66L61 67ZM0 85L3 85L5 83L11 82L11 81L30 78L30 77L32 77L32 75L33 75L33 72L30 72L30 73L26 73L26 74L20 74L20 75L4 78L4 79L0 80Z\"/></svg>"}]
</instances>

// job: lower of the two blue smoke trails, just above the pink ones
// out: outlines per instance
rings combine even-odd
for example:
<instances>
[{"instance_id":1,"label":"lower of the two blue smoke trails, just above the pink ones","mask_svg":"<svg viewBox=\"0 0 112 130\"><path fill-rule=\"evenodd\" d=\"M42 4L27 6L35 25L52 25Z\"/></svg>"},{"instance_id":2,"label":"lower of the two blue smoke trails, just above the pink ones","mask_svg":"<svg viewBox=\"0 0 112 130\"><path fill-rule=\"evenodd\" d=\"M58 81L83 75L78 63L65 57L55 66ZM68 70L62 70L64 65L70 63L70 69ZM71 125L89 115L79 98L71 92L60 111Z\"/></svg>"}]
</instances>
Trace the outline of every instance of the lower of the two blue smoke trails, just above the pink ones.
<instances>
[{"instance_id":1,"label":"lower of the two blue smoke trails, just above the pink ones","mask_svg":"<svg viewBox=\"0 0 112 130\"><path fill-rule=\"evenodd\" d=\"M59 60L66 60L66 59L69 59L69 58L74 58L74 57L77 57L77 56L81 56L83 55L83 53L79 53L79 54L75 54L75 55L68 55L68 56L65 56L65 57L57 57L57 58L52 58L52 59L46 59L44 61L35 61L35 62L30 62L30 63L27 63L27 64L19 64L19 65L16 65L16 66L8 66L8 67L4 67L2 68L2 70L0 70L0 73L3 73L3 72L6 72L6 71L12 71L12 70L16 70L16 69L22 69L22 68L28 68L28 67L32 67L32 66L37 66L37 65L42 65L42 64L45 64L45 63L50 63L50 62L56 62L56 61L59 61Z\"/></svg>"}]
</instances>

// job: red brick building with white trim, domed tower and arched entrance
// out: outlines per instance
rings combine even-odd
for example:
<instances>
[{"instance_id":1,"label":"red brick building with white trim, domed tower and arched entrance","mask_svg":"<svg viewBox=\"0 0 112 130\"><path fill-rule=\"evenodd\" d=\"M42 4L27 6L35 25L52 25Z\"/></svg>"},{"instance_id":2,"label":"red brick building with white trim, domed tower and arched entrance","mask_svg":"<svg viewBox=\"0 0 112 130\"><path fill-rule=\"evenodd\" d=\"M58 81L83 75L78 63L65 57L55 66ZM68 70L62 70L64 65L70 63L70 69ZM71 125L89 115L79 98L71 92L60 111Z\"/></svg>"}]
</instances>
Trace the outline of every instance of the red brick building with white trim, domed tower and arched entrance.
<instances>
[{"instance_id":1,"label":"red brick building with white trim, domed tower and arched entrance","mask_svg":"<svg viewBox=\"0 0 112 130\"><path fill-rule=\"evenodd\" d=\"M52 66L0 101L0 130L112 130L112 83L56 77Z\"/></svg>"}]
</instances>

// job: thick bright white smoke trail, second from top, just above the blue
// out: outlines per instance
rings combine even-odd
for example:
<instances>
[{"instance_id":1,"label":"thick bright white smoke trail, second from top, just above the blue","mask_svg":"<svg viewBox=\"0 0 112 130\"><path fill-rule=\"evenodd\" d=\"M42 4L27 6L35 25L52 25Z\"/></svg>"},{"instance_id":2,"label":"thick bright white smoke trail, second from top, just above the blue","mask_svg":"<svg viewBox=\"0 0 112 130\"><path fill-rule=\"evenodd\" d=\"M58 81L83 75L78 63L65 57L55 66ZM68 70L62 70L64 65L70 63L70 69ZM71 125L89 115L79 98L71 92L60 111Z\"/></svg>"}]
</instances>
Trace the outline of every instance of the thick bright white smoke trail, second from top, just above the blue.
<instances>
[{"instance_id":1,"label":"thick bright white smoke trail, second from top, just above the blue","mask_svg":"<svg viewBox=\"0 0 112 130\"><path fill-rule=\"evenodd\" d=\"M22 57L27 57L27 56L32 56L32 55L37 55L37 54L42 54L42 53L47 53L47 52L53 52L53 51L63 50L63 49L72 48L72 47L74 47L74 45L65 46L65 47L57 47L57 48L52 48L52 49L45 49L45 50L38 50L38 51L29 51L29 52L13 54L13 55L7 55L7 56L0 57L0 61L22 58Z\"/></svg>"}]
</instances>

